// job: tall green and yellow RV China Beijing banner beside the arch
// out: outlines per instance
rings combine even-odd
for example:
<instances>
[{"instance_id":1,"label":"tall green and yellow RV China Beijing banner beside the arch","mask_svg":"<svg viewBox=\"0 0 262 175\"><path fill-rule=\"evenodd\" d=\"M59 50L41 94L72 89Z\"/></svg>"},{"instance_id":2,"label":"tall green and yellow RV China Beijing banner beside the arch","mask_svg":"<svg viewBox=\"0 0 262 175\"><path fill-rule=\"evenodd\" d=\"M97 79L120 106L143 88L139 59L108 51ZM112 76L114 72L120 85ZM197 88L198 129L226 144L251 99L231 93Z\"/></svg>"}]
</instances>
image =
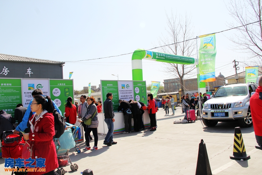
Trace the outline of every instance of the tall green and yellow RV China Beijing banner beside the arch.
<instances>
[{"instance_id":1,"label":"tall green and yellow RV China Beijing banner beside the arch","mask_svg":"<svg viewBox=\"0 0 262 175\"><path fill-rule=\"evenodd\" d=\"M202 35L199 47L199 79L201 82L215 81L216 37L215 34Z\"/></svg>"}]
</instances>

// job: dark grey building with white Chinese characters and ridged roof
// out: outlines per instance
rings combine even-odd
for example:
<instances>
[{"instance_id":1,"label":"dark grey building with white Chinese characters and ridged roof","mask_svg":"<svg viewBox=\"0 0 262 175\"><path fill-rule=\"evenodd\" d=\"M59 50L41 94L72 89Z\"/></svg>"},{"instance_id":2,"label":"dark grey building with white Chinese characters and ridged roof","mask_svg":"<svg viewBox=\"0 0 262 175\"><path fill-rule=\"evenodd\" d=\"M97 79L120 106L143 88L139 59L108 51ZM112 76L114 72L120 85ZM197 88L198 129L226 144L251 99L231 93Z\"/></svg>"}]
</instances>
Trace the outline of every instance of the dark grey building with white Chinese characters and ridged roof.
<instances>
[{"instance_id":1,"label":"dark grey building with white Chinese characters and ridged roof","mask_svg":"<svg viewBox=\"0 0 262 175\"><path fill-rule=\"evenodd\" d=\"M64 62L0 54L0 78L63 79Z\"/></svg>"}]
</instances>

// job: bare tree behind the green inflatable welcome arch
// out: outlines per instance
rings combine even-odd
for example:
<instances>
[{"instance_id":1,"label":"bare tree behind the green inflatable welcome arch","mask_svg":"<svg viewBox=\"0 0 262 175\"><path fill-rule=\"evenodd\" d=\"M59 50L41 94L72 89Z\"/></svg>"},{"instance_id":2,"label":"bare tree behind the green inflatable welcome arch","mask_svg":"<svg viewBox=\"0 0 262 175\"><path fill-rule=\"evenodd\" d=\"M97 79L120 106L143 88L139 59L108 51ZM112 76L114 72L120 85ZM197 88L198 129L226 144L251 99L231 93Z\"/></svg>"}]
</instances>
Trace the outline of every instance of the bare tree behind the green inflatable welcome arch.
<instances>
[{"instance_id":1,"label":"bare tree behind the green inflatable welcome arch","mask_svg":"<svg viewBox=\"0 0 262 175\"><path fill-rule=\"evenodd\" d=\"M159 48L160 52L169 53L173 55L182 55L187 57L192 57L196 55L196 44L194 40L186 41L188 39L194 38L194 27L191 24L191 15L185 17L182 15L173 15L169 17L167 15L167 28L165 29L168 33L167 36L162 36L158 39L160 46L168 45ZM174 44L172 44L174 43ZM169 45L172 44L172 45ZM195 52L194 52L195 51ZM187 64L165 64L165 72L171 74L174 78L180 79L181 90L184 92L183 79L185 76L190 76L194 73L196 68L193 65Z\"/></svg>"}]
</instances>

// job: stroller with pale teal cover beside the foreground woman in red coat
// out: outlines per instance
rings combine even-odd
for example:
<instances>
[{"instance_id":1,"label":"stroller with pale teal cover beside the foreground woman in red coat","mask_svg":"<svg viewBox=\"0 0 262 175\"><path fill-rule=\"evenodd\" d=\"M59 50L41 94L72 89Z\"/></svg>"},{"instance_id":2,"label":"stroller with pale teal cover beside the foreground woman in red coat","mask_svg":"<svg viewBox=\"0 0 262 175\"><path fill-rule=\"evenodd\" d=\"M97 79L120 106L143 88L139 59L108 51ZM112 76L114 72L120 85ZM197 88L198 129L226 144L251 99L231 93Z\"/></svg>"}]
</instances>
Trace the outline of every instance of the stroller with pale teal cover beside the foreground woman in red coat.
<instances>
[{"instance_id":1,"label":"stroller with pale teal cover beside the foreground woman in red coat","mask_svg":"<svg viewBox=\"0 0 262 175\"><path fill-rule=\"evenodd\" d=\"M75 127L75 125L66 126L67 130L65 130L64 134L61 135L60 138L55 139L56 146L56 155L59 167L56 171L59 175L65 174L65 170L63 167L70 165L70 169L75 171L78 169L77 164L72 164L69 157L69 150L75 147L75 139L73 139L73 135L77 134L76 129L72 132L71 128Z\"/></svg>"}]
</instances>

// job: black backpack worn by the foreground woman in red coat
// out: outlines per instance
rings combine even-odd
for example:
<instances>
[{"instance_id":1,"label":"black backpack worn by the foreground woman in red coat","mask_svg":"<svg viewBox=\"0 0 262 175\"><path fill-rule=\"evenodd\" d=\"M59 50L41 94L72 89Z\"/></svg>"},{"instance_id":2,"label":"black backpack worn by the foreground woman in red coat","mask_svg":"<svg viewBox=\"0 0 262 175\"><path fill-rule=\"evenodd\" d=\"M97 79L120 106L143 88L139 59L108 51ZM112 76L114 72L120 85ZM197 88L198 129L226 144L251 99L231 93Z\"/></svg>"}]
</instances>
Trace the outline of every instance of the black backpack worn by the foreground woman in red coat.
<instances>
[{"instance_id":1,"label":"black backpack worn by the foreground woman in red coat","mask_svg":"<svg viewBox=\"0 0 262 175\"><path fill-rule=\"evenodd\" d=\"M63 116L54 109L54 127L55 135L54 138L59 138L65 132L65 120Z\"/></svg>"}]
</instances>

